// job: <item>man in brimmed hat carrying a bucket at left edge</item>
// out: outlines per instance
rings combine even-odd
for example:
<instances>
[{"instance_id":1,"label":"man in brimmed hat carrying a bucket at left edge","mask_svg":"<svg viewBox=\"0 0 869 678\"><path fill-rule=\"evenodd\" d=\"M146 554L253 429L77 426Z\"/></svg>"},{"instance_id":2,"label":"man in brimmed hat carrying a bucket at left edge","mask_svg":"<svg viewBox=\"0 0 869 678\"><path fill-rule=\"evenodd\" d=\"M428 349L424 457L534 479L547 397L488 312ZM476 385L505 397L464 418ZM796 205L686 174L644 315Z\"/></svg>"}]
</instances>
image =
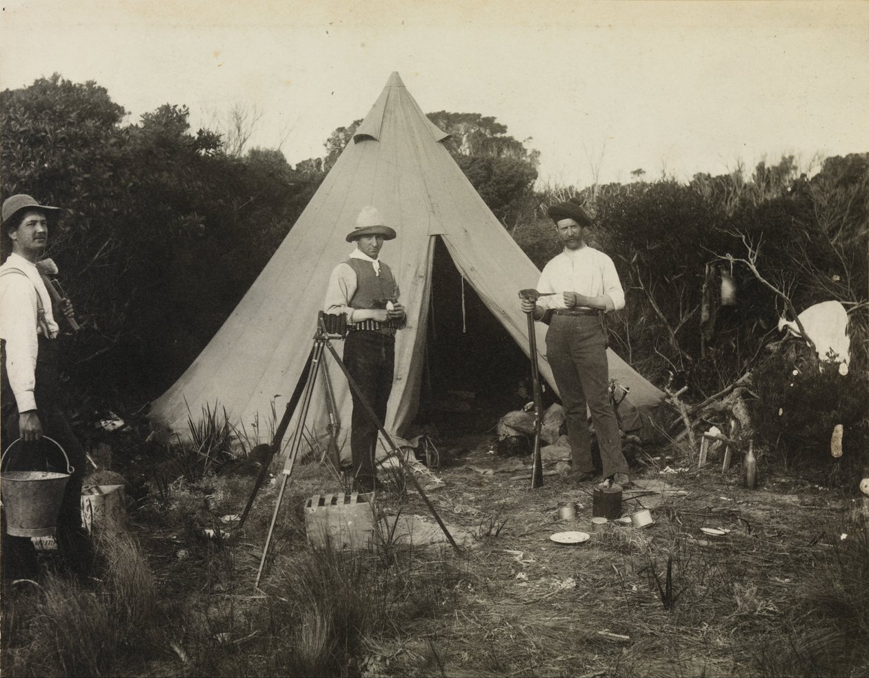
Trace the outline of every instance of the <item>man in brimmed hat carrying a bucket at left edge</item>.
<instances>
[{"instance_id":1,"label":"man in brimmed hat carrying a bucket at left edge","mask_svg":"<svg viewBox=\"0 0 869 678\"><path fill-rule=\"evenodd\" d=\"M0 402L3 471L50 470L67 472L63 455L48 442L56 441L69 457L74 472L66 484L57 518L57 545L66 565L76 574L90 567L90 540L82 528L81 494L85 455L60 409L57 361L58 326L51 297L36 269L48 243L48 217L56 207L41 205L18 194L3 202L3 249L0 266ZM59 309L72 317L69 302ZM3 516L3 580L33 579L36 550L29 537L6 534Z\"/></svg>"}]
</instances>

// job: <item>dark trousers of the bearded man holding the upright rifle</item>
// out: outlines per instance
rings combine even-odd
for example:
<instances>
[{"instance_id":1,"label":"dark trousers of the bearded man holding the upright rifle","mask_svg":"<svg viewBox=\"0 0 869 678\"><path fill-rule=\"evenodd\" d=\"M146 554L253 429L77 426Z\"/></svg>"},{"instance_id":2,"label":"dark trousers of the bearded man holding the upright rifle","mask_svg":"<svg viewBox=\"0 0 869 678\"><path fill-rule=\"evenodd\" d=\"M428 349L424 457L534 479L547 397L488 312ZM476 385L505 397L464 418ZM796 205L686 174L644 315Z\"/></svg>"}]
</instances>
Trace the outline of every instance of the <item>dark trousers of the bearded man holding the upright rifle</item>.
<instances>
[{"instance_id":1,"label":"dark trousers of the bearded man holding the upright rifle","mask_svg":"<svg viewBox=\"0 0 869 678\"><path fill-rule=\"evenodd\" d=\"M621 453L619 424L609 393L607 340L596 316L553 316L546 337L547 359L552 366L561 404L567 417L567 437L574 471L594 470L588 415L600 446L603 475L627 473Z\"/></svg>"}]
</instances>

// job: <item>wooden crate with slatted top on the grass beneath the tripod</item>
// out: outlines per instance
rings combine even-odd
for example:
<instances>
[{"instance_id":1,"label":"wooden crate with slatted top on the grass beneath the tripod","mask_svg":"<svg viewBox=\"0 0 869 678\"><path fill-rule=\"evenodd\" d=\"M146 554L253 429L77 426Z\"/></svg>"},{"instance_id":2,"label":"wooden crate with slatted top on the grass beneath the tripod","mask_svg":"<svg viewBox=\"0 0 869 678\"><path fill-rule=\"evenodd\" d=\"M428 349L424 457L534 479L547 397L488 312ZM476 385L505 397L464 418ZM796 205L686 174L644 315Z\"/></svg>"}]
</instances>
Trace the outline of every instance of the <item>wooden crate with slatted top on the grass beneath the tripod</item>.
<instances>
[{"instance_id":1,"label":"wooden crate with slatted top on the grass beneath the tripod","mask_svg":"<svg viewBox=\"0 0 869 678\"><path fill-rule=\"evenodd\" d=\"M368 548L374 539L373 494L314 495L305 500L305 528L315 548Z\"/></svg>"}]
</instances>

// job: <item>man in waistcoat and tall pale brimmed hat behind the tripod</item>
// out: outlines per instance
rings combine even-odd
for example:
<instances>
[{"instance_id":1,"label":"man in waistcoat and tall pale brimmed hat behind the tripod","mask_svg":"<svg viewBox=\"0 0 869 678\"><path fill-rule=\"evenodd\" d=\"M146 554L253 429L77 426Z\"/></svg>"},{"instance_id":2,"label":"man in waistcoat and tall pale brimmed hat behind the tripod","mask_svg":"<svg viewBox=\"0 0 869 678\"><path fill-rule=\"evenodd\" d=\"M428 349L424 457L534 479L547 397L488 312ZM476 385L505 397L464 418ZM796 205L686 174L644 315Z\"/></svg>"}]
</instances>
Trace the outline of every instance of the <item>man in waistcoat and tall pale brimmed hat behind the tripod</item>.
<instances>
[{"instance_id":1,"label":"man in waistcoat and tall pale brimmed hat behind the tripod","mask_svg":"<svg viewBox=\"0 0 869 678\"><path fill-rule=\"evenodd\" d=\"M347 314L344 363L381 426L395 374L395 331L407 320L395 276L378 258L384 241L394 239L395 229L385 225L380 212L370 205L363 207L355 229L347 236L347 242L356 247L332 271L323 304L326 313ZM375 469L378 429L359 396L355 392L352 396L350 449L355 485L360 492L371 492L381 488Z\"/></svg>"}]
</instances>

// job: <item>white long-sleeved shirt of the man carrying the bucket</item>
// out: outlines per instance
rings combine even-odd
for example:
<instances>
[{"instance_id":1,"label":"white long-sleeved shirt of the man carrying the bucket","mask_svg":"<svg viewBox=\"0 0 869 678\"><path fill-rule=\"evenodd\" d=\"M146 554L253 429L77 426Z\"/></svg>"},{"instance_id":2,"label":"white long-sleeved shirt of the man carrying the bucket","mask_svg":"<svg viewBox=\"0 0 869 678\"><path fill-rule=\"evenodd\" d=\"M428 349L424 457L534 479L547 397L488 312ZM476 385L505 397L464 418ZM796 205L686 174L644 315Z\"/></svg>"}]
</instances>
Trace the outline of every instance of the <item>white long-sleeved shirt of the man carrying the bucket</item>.
<instances>
[{"instance_id":1,"label":"white long-sleeved shirt of the man carrying the bucket","mask_svg":"<svg viewBox=\"0 0 869 678\"><path fill-rule=\"evenodd\" d=\"M39 352L36 336L43 334L36 322L37 294L43 302L50 338L57 336L58 328L51 312L51 297L36 265L13 252L0 266L0 273L6 269L20 269L24 273L24 276L16 272L0 275L0 338L6 342L6 374L18 411L27 412L36 409L34 389Z\"/></svg>"}]
</instances>

